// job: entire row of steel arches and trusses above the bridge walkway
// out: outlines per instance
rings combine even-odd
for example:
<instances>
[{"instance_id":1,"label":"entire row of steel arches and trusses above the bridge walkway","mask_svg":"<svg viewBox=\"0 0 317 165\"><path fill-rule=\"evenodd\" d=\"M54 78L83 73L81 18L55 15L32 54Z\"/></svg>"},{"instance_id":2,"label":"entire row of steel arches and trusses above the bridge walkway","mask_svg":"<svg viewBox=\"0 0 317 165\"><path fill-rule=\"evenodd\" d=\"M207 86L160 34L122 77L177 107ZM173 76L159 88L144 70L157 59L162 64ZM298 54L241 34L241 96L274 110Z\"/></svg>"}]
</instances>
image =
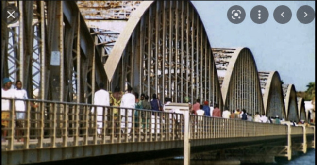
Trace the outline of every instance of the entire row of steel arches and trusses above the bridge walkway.
<instances>
[{"instance_id":1,"label":"entire row of steel arches and trusses above the bridge walkway","mask_svg":"<svg viewBox=\"0 0 317 165\"><path fill-rule=\"evenodd\" d=\"M30 98L92 103L96 84L112 90L128 83L162 100L188 96L221 109L299 119L295 87L284 86L281 100L278 72L258 72L250 49L211 49L191 2L104 1L107 7L96 11L85 9L101 2L1 3L21 13L17 23L1 27L1 78L22 80ZM100 10L109 12L102 17ZM111 26L92 25L105 19ZM113 20L125 20L125 28L110 33Z\"/></svg>"}]
</instances>

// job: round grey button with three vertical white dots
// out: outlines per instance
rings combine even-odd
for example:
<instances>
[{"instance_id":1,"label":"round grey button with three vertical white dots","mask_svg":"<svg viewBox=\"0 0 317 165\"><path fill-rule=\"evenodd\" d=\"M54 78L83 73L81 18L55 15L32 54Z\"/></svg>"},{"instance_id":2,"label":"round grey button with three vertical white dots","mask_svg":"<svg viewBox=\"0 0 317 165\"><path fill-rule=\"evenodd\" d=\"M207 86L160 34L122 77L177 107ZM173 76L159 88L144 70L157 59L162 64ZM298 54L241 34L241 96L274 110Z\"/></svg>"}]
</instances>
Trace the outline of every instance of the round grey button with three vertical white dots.
<instances>
[{"instance_id":1,"label":"round grey button with three vertical white dots","mask_svg":"<svg viewBox=\"0 0 317 165\"><path fill-rule=\"evenodd\" d=\"M253 22L257 24L262 24L267 21L268 11L264 6L258 5L254 6L250 12L250 17Z\"/></svg>"}]
</instances>

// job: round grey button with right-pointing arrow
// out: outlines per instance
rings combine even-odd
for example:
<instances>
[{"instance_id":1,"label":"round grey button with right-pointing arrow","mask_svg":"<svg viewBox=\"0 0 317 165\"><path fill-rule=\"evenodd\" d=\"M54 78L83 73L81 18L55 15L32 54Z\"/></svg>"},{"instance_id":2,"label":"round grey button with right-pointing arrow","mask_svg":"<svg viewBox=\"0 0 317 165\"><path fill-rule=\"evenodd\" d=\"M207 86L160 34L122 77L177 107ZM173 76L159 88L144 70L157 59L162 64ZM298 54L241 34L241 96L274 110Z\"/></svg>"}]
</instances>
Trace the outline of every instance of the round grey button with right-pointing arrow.
<instances>
[{"instance_id":1,"label":"round grey button with right-pointing arrow","mask_svg":"<svg viewBox=\"0 0 317 165\"><path fill-rule=\"evenodd\" d=\"M296 16L301 23L308 24L314 20L315 11L312 7L304 5L297 10Z\"/></svg>"}]
</instances>

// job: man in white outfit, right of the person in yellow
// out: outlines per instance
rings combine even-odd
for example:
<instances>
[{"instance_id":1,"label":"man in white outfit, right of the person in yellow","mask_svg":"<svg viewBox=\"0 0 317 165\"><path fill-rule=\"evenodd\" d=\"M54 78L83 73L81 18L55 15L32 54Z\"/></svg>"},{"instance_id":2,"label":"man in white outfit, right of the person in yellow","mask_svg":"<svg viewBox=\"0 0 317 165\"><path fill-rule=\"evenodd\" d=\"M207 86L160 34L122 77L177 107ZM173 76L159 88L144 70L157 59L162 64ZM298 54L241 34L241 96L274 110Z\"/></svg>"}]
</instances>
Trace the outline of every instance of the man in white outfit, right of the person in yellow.
<instances>
[{"instance_id":1,"label":"man in white outfit, right of the person in yellow","mask_svg":"<svg viewBox=\"0 0 317 165\"><path fill-rule=\"evenodd\" d=\"M128 85L127 93L122 96L120 107L122 108L135 108L135 96L131 93L132 87ZM126 114L127 113L127 114ZM125 130L126 118L128 121L128 132L130 133L132 127L132 110L131 109L120 109L120 114L122 115L121 119L121 130Z\"/></svg>"}]
</instances>

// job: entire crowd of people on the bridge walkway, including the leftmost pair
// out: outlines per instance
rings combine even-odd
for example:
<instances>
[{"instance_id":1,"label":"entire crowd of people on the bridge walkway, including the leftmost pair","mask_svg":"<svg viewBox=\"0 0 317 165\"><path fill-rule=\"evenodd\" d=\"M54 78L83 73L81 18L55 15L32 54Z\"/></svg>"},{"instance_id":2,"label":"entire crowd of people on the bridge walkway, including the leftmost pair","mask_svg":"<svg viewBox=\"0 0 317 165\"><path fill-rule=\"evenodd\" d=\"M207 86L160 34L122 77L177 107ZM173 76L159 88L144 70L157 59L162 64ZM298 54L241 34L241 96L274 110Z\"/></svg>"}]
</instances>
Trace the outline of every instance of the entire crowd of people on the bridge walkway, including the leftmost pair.
<instances>
[{"instance_id":1,"label":"entire crowd of people on the bridge walkway, including the leftmost pair","mask_svg":"<svg viewBox=\"0 0 317 165\"><path fill-rule=\"evenodd\" d=\"M102 128L104 127L103 112L105 112L105 116L107 116L105 120L114 121L109 122L109 124L105 127L114 128L114 133L116 134L116 136L119 132L130 134L132 128L135 128L133 130L135 132L160 133L160 123L164 123L167 122L167 120L169 120L168 122L176 123L176 126L178 126L177 123L180 122L180 118L176 117L176 115L169 114L168 116L160 116L160 113L154 113L166 112L166 105L171 103L171 98L166 97L163 104L161 100L158 99L156 94L152 94L151 99L148 95L145 95L143 93L139 97L139 93L132 93L132 87L130 85L127 86L127 90L125 92L121 91L120 87L118 86L115 87L113 92L106 91L104 89L103 83L99 84L99 88L100 89L96 91L94 94L94 106L91 108L91 112L93 114L97 114L96 124L97 133L99 136L101 136L103 130ZM26 90L22 89L22 82L17 81L15 83L15 88L12 89L12 82L9 78L3 79L2 97L28 99ZM256 114L253 116L252 114L247 113L245 109L242 109L242 111L240 111L240 109L236 109L230 112L228 108L225 108L225 110L221 113L221 110L219 109L217 103L214 104L214 106L212 104L209 104L208 101L204 101L203 104L200 104L200 99L197 99L196 103L193 105L191 104L190 99L188 97L185 97L183 102L189 104L190 113L192 115L222 117L228 119L241 119L253 122L275 124L281 124L281 121L284 121L284 119L280 118L279 116L267 117L267 115L265 114L260 115L259 112L256 112ZM30 104L33 108L38 107L32 102L30 102ZM112 106L112 108L103 111L104 107L102 106ZM8 127L8 120L10 119L10 101L2 99L1 107L2 128L5 128ZM23 127L23 122L21 122L21 120L23 121L23 119L25 119L26 114L25 101L15 101L15 109L15 117L17 119L16 127L21 128ZM141 109L147 111L133 111L132 109ZM111 115L108 114L109 112L111 112ZM172 112L174 114L182 114L180 110L172 110L168 112ZM199 118L199 120L201 120L201 118ZM16 135L23 135L23 131L16 131ZM3 137L6 136L7 131L2 130L2 141L4 140ZM18 140L23 141L23 138Z\"/></svg>"}]
</instances>

